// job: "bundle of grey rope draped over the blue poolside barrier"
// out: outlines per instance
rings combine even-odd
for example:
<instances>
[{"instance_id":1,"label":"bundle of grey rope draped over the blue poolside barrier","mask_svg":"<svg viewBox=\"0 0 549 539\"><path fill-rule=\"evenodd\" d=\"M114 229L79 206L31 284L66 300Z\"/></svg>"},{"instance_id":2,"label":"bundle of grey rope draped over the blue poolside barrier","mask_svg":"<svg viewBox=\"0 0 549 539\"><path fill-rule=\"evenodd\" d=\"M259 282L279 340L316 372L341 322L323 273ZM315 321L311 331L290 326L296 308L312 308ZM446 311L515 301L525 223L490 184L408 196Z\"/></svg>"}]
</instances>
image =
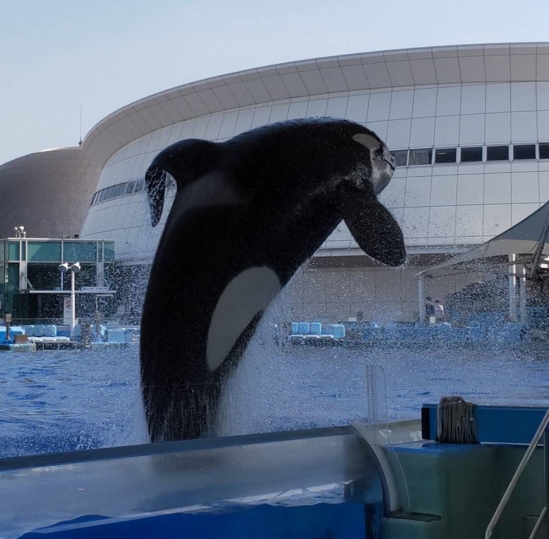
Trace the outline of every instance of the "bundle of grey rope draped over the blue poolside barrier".
<instances>
[{"instance_id":1,"label":"bundle of grey rope draped over the blue poolside barrier","mask_svg":"<svg viewBox=\"0 0 549 539\"><path fill-rule=\"evenodd\" d=\"M436 408L436 441L478 443L473 402L463 397L442 397Z\"/></svg>"}]
</instances>

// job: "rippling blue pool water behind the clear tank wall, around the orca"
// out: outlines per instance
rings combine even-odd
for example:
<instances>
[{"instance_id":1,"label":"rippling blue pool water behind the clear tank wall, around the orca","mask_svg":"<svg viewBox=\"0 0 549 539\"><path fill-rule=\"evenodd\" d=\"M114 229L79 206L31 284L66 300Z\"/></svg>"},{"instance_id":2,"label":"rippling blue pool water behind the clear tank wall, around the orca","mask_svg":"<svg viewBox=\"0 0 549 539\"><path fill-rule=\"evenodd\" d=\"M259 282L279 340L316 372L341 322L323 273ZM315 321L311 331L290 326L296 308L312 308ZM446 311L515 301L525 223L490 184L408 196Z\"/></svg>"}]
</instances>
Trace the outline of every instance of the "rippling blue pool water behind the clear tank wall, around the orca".
<instances>
[{"instance_id":1,"label":"rippling blue pool water behind the clear tank wall, around the orca","mask_svg":"<svg viewBox=\"0 0 549 539\"><path fill-rule=\"evenodd\" d=\"M0 355L0 456L147 442L137 350ZM382 366L388 419L419 418L457 394L479 404L546 405L546 352L264 350L238 376L223 434L343 425L367 416L366 366Z\"/></svg>"}]
</instances>

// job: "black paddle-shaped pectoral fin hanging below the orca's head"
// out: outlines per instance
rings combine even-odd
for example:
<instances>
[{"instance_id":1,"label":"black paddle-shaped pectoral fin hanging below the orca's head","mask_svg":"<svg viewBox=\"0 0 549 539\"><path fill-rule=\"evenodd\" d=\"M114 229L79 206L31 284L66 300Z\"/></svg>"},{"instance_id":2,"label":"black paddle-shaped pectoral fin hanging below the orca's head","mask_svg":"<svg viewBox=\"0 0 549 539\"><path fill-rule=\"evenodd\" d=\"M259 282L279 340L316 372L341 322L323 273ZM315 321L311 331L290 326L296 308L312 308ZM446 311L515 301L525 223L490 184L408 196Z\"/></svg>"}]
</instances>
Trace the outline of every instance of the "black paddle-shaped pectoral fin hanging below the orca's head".
<instances>
[{"instance_id":1,"label":"black paddle-shaped pectoral fin hanging below the orca's head","mask_svg":"<svg viewBox=\"0 0 549 539\"><path fill-rule=\"evenodd\" d=\"M399 223L379 201L358 205L351 202L341 212L358 246L368 256L388 266L400 266L406 259Z\"/></svg>"}]
</instances>

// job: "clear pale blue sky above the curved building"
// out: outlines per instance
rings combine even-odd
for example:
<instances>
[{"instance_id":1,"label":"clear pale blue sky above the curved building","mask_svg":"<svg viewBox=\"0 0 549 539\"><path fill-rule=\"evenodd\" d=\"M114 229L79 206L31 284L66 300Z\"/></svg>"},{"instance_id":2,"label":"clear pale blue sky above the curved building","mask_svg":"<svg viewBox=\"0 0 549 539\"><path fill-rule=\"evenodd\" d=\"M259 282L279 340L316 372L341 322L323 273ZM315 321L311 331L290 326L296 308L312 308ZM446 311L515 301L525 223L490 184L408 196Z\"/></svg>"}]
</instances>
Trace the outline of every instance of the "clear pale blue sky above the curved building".
<instances>
[{"instance_id":1,"label":"clear pale blue sky above the curved building","mask_svg":"<svg viewBox=\"0 0 549 539\"><path fill-rule=\"evenodd\" d=\"M405 47L549 41L541 0L0 0L0 163L231 71Z\"/></svg>"}]
</instances>

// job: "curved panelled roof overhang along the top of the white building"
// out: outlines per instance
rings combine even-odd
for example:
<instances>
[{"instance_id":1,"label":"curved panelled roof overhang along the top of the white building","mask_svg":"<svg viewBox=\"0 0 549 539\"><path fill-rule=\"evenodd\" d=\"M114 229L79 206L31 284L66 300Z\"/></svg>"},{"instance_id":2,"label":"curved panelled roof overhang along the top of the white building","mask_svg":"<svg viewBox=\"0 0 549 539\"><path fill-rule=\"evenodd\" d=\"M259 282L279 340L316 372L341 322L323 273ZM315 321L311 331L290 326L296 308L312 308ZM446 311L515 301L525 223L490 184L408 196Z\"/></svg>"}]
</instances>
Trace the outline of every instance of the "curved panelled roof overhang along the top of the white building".
<instances>
[{"instance_id":1,"label":"curved panelled roof overhang along the top of the white building","mask_svg":"<svg viewBox=\"0 0 549 539\"><path fill-rule=\"evenodd\" d=\"M549 43L386 50L276 64L177 86L124 106L83 141L96 166L151 131L247 105L316 94L424 85L549 81Z\"/></svg>"}]
</instances>

